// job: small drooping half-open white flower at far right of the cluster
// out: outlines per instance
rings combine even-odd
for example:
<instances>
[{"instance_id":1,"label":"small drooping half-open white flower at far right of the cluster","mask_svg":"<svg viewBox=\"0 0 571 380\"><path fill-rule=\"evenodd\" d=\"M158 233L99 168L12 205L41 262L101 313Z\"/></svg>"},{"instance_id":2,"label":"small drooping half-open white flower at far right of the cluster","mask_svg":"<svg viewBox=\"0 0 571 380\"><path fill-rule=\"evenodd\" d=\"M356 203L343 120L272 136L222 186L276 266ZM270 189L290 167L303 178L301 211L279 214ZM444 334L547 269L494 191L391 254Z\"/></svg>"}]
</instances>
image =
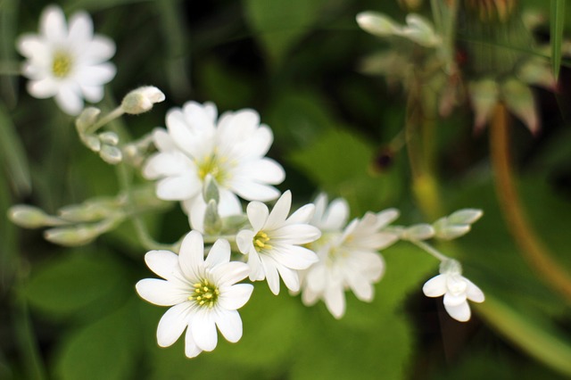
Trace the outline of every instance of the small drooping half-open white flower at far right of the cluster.
<instances>
[{"instance_id":1,"label":"small drooping half-open white flower at far right of the cluster","mask_svg":"<svg viewBox=\"0 0 571 380\"><path fill-rule=\"evenodd\" d=\"M459 262L446 260L440 266L440 275L432 277L422 287L427 297L444 296L444 309L451 318L466 322L470 318L468 300L484 302L484 293L468 278L462 276Z\"/></svg>"}]
</instances>

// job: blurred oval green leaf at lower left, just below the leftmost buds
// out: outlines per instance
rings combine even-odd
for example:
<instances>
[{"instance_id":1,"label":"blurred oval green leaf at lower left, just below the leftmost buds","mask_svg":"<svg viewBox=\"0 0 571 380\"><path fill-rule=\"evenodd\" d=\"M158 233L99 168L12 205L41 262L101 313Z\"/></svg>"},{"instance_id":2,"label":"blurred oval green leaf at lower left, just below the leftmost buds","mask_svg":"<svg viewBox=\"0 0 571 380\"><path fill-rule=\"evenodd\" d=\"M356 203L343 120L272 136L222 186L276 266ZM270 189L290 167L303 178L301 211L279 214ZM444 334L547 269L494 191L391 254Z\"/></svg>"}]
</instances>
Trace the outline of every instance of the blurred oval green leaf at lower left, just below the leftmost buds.
<instances>
[{"instance_id":1,"label":"blurred oval green leaf at lower left, just below the leftmost buds","mask_svg":"<svg viewBox=\"0 0 571 380\"><path fill-rule=\"evenodd\" d=\"M37 266L22 292L32 308L51 317L77 318L112 306L109 299L115 300L124 285L118 263L102 252L83 250L62 253Z\"/></svg>"}]
</instances>

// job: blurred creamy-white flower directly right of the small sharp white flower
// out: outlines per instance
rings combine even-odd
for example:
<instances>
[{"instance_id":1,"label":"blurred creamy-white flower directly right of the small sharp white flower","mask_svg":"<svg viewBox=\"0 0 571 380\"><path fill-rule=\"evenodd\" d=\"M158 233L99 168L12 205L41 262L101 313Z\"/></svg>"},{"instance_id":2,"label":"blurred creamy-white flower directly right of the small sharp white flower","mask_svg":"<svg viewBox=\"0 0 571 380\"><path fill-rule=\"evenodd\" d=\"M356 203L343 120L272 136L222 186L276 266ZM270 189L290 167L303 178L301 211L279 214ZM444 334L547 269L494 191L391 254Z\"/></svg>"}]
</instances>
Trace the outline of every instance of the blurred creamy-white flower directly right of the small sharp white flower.
<instances>
[{"instance_id":1,"label":"blurred creamy-white flower directly right of the small sharp white flower","mask_svg":"<svg viewBox=\"0 0 571 380\"><path fill-rule=\"evenodd\" d=\"M398 211L368 212L362 219L349 217L349 205L339 198L327 207L327 196L319 194L311 224L322 231L311 244L319 262L302 272L302 302L308 306L322 299L335 318L343 317L345 295L351 289L358 299L370 302L374 287L385 272L385 261L377 252L398 240L382 229L398 217Z\"/></svg>"}]
</instances>

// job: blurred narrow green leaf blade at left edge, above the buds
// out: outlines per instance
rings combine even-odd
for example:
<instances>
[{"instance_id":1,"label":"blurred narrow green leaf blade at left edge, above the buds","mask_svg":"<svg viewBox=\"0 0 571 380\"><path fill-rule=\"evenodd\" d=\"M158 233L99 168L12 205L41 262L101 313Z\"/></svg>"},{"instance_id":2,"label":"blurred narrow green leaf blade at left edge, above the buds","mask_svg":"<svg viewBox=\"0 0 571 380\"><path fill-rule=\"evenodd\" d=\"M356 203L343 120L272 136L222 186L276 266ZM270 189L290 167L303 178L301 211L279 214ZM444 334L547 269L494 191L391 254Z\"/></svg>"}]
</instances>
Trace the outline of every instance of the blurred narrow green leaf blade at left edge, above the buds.
<instances>
[{"instance_id":1,"label":"blurred narrow green leaf blade at left edge, above the buds","mask_svg":"<svg viewBox=\"0 0 571 380\"><path fill-rule=\"evenodd\" d=\"M9 182L18 194L28 194L31 190L28 159L12 120L2 104L0 104L0 136L2 136L0 161L4 162Z\"/></svg>"}]
</instances>

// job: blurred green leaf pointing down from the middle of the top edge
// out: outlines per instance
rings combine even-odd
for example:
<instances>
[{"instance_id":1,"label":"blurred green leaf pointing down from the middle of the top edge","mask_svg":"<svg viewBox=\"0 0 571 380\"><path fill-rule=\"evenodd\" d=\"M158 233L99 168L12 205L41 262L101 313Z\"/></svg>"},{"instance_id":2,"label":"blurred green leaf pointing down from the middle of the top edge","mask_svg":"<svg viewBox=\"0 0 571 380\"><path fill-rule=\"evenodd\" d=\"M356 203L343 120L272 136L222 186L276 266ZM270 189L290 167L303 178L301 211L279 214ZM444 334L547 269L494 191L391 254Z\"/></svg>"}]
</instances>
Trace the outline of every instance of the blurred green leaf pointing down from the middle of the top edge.
<instances>
[{"instance_id":1,"label":"blurred green leaf pointing down from the middle of the top edge","mask_svg":"<svg viewBox=\"0 0 571 380\"><path fill-rule=\"evenodd\" d=\"M321 0L245 0L246 20L272 63L285 54L319 19Z\"/></svg>"}]
</instances>

